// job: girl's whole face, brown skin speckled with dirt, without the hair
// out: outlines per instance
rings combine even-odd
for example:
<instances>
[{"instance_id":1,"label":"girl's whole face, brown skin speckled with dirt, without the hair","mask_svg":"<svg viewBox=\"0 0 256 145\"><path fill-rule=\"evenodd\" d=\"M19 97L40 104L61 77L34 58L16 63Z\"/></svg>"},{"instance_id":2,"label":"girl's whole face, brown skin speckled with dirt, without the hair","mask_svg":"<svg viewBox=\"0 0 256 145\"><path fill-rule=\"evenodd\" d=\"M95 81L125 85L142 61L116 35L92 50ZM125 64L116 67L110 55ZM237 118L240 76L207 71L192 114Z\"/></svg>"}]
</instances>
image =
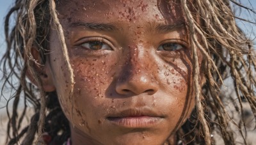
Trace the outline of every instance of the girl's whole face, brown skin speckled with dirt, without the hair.
<instances>
[{"instance_id":1,"label":"girl's whole face, brown skin speckled with dirt, without the hair","mask_svg":"<svg viewBox=\"0 0 256 145\"><path fill-rule=\"evenodd\" d=\"M163 144L194 106L179 1L67 2L57 9L74 70L73 95L54 30L49 62L72 142Z\"/></svg>"}]
</instances>

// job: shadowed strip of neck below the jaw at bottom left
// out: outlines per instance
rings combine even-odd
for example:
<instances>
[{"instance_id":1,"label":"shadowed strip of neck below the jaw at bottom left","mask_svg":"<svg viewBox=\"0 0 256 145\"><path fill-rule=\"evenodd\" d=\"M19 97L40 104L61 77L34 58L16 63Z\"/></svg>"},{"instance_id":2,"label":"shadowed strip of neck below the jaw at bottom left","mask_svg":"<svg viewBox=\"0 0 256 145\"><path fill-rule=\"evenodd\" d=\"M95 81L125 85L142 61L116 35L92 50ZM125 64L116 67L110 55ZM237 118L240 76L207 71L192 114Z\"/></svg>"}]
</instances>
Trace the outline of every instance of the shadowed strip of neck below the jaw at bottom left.
<instances>
[{"instance_id":1,"label":"shadowed strip of neck below the jaw at bottom left","mask_svg":"<svg viewBox=\"0 0 256 145\"><path fill-rule=\"evenodd\" d=\"M70 131L71 131L71 141L72 144L80 145L80 144L93 144L98 145L101 144L100 142L96 141L95 139L92 139L92 137L88 134L84 134L79 128L74 127L73 125L70 125Z\"/></svg>"}]
</instances>

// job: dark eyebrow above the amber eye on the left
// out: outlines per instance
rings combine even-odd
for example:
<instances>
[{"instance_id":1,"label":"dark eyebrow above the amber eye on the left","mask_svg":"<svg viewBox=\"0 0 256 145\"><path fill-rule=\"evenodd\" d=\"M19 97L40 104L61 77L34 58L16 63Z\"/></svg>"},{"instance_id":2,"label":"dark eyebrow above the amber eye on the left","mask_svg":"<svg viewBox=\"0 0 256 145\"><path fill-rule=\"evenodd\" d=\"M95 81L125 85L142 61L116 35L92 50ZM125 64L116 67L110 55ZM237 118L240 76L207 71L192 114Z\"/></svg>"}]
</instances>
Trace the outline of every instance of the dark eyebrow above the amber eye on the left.
<instances>
[{"instance_id":1,"label":"dark eyebrow above the amber eye on the left","mask_svg":"<svg viewBox=\"0 0 256 145\"><path fill-rule=\"evenodd\" d=\"M91 29L95 31L116 31L118 30L114 25L111 24L98 24L98 23L84 23L84 22L74 22L69 25L69 27L83 27L84 29Z\"/></svg>"}]
</instances>

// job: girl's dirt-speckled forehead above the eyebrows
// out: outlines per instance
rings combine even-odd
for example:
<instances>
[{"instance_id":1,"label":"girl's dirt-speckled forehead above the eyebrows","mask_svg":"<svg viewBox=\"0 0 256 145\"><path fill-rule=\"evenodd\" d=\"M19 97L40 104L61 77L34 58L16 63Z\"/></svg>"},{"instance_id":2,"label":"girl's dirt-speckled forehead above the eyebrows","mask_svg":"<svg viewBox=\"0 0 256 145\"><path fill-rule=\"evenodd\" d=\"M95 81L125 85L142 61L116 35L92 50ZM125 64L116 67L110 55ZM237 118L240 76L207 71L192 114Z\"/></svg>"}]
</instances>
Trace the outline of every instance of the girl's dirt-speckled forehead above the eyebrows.
<instances>
[{"instance_id":1,"label":"girl's dirt-speckled forehead above the eyebrows","mask_svg":"<svg viewBox=\"0 0 256 145\"><path fill-rule=\"evenodd\" d=\"M127 24L156 21L164 24L184 22L180 2L166 0L61 0L57 9L61 19Z\"/></svg>"}]
</instances>

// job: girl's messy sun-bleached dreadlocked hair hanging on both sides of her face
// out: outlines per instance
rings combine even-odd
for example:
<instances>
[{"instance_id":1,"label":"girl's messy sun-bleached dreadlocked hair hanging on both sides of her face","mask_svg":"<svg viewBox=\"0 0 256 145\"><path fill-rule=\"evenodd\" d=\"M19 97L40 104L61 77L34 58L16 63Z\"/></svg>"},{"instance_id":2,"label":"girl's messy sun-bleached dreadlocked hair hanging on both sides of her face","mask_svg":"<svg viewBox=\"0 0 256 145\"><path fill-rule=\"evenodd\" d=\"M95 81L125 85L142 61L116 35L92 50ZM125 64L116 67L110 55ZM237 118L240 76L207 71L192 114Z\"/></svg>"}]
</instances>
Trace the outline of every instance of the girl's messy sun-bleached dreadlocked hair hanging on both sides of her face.
<instances>
[{"instance_id":1,"label":"girl's messy sun-bleached dreadlocked hair hanging on both sides of her face","mask_svg":"<svg viewBox=\"0 0 256 145\"><path fill-rule=\"evenodd\" d=\"M52 141L57 144L67 141L70 137L68 120L61 111L56 92L43 91L40 73L35 69L35 65L45 64L45 56L49 51L47 50L49 31L56 29L64 61L70 71L70 94L72 94L74 75L68 58L63 29L55 8L55 4L59 2L57 0L16 0L6 15L4 32L7 49L1 59L4 72L3 88L12 86L15 90L10 98L10 100L14 99L11 105L12 113L8 110L9 102L6 107L9 117L8 144L18 143L21 138L22 144L33 144L35 136L40 139L43 132L51 135ZM177 128L177 141L185 144L214 144L211 135L213 132L218 132L225 144L235 144L234 131L228 127L232 122L246 144L243 102L250 105L255 117L256 59L252 41L237 26L236 20L254 25L255 22L234 15L232 6L246 9L252 15L256 13L236 0L194 0L193 4L187 0L180 0L180 3L189 31L196 105L186 123L181 128ZM13 15L15 15L14 25L12 25ZM31 54L33 46L36 46L37 51L40 52L39 60L35 60ZM204 55L201 67L198 64L198 52ZM37 86L26 79L28 71L33 74ZM206 79L204 86L200 83L202 74ZM19 80L19 85L13 84L13 77ZM223 81L227 78L232 78L236 97L220 91ZM22 101L21 97L24 98L24 109L21 114L18 114L17 107ZM241 115L241 120L233 120L225 107L224 100L234 102L235 111ZM21 123L26 115L28 103L33 106L35 113L28 127L22 128ZM185 111L186 109L180 121L184 118Z\"/></svg>"}]
</instances>

